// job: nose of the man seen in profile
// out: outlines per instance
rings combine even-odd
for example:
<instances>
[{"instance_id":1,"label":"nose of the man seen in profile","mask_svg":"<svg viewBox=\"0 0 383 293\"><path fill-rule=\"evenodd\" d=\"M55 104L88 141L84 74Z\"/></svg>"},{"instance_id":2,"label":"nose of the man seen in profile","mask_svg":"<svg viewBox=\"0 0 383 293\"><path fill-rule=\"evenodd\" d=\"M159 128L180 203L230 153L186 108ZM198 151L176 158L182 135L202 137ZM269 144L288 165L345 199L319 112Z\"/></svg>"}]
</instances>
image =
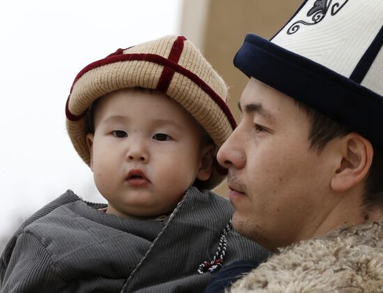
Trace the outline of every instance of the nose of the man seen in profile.
<instances>
[{"instance_id":1,"label":"nose of the man seen in profile","mask_svg":"<svg viewBox=\"0 0 383 293\"><path fill-rule=\"evenodd\" d=\"M217 153L218 163L230 169L242 169L246 164L243 140L239 128L228 137Z\"/></svg>"}]
</instances>

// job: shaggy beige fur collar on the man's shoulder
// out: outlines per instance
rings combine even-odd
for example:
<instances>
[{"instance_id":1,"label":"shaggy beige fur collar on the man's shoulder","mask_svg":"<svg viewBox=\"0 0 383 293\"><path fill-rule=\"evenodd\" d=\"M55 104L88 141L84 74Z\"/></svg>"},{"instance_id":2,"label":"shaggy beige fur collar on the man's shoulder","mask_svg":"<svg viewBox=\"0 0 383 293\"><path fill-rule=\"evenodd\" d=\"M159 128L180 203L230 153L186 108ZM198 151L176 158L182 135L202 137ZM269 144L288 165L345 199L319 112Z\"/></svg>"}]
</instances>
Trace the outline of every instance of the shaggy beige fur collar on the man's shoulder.
<instances>
[{"instance_id":1,"label":"shaggy beige fur collar on the man's shoulder","mask_svg":"<svg viewBox=\"0 0 383 293\"><path fill-rule=\"evenodd\" d=\"M282 248L229 292L383 292L383 221Z\"/></svg>"}]
</instances>

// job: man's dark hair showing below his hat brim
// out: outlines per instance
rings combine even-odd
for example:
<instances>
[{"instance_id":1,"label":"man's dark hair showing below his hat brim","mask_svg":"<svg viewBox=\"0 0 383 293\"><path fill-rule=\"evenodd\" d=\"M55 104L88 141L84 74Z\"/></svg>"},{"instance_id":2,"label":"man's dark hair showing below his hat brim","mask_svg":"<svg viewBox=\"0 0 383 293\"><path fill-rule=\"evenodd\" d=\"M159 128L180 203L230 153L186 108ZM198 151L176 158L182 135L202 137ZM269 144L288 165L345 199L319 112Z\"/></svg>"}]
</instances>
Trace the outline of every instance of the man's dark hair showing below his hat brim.
<instances>
[{"instance_id":1,"label":"man's dark hair showing below his hat brim","mask_svg":"<svg viewBox=\"0 0 383 293\"><path fill-rule=\"evenodd\" d=\"M295 100L296 105L307 114L310 121L308 142L310 148L319 153L336 137L345 137L352 132L351 128L330 119L306 104ZM364 205L367 208L380 206L383 209L383 150L373 144L373 163L368 171L364 188Z\"/></svg>"}]
</instances>

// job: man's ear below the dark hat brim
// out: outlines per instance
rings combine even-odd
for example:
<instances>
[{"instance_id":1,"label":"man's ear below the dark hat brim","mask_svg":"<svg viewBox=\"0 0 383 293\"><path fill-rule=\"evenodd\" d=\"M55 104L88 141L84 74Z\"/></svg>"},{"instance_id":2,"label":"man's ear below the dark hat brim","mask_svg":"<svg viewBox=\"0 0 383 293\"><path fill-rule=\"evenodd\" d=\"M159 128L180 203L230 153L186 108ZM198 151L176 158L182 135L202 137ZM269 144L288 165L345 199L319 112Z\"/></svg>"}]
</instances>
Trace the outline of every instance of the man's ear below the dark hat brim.
<instances>
[{"instance_id":1,"label":"man's ear below the dark hat brim","mask_svg":"<svg viewBox=\"0 0 383 293\"><path fill-rule=\"evenodd\" d=\"M340 155L331 178L331 189L344 192L361 182L373 162L373 146L358 133L349 133L340 141Z\"/></svg>"}]
</instances>

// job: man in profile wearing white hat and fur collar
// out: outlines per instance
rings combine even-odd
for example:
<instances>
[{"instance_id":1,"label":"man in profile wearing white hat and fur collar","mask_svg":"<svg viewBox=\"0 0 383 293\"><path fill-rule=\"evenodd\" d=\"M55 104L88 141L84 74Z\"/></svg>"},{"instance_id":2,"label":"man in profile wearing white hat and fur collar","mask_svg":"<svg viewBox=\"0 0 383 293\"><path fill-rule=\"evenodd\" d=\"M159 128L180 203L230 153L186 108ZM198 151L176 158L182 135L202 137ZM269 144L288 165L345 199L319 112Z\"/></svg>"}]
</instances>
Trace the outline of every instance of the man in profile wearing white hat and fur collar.
<instances>
[{"instance_id":1,"label":"man in profile wearing white hat and fur collar","mask_svg":"<svg viewBox=\"0 0 383 293\"><path fill-rule=\"evenodd\" d=\"M382 292L382 15L307 0L237 52L250 80L218 160L233 227L275 254L230 292Z\"/></svg>"}]
</instances>

